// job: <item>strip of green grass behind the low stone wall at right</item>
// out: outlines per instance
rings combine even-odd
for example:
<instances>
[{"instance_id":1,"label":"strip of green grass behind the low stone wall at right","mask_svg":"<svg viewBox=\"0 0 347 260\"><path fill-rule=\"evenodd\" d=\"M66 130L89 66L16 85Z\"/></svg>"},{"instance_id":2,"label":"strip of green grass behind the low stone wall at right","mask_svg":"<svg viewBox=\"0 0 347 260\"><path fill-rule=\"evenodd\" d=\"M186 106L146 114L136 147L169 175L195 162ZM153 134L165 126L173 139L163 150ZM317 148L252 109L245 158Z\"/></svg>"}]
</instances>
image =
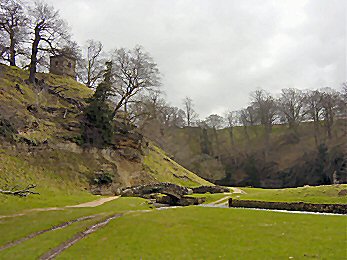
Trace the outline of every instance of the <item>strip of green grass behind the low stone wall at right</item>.
<instances>
[{"instance_id":1,"label":"strip of green grass behind the low stone wall at right","mask_svg":"<svg viewBox=\"0 0 347 260\"><path fill-rule=\"evenodd\" d=\"M234 194L232 197L244 200L347 204L347 196L338 195L341 190L347 189L347 184L289 189L241 189L247 194Z\"/></svg>"}]
</instances>

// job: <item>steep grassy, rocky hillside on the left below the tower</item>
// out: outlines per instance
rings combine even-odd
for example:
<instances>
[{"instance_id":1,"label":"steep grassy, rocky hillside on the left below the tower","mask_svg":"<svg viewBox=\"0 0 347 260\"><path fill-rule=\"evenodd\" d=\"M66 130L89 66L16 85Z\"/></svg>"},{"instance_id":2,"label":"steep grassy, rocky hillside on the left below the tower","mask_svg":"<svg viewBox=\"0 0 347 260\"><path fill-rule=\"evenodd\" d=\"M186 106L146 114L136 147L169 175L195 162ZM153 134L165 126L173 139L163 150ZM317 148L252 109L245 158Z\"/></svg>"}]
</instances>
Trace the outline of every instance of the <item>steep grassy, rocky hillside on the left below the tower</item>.
<instances>
[{"instance_id":1,"label":"steep grassy, rocky hillside on the left below the tower","mask_svg":"<svg viewBox=\"0 0 347 260\"><path fill-rule=\"evenodd\" d=\"M109 148L80 146L81 109L92 91L62 76L38 74L36 86L27 84L27 77L27 71L0 64L1 188L34 183L43 194L41 203L49 204L51 195L83 200L90 190L114 194L122 187L158 181L208 184L136 129L117 128L116 143ZM112 184L99 185L105 177Z\"/></svg>"}]
</instances>

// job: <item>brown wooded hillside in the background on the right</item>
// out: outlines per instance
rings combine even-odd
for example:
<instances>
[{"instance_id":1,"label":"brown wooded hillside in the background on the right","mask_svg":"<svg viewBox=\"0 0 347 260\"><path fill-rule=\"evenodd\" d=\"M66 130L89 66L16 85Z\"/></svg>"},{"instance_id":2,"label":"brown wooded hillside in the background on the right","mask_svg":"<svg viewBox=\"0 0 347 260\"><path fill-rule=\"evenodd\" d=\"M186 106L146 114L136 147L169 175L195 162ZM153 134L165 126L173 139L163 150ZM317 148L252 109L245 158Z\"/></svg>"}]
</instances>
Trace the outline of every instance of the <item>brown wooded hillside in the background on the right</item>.
<instances>
[{"instance_id":1,"label":"brown wooded hillside in the background on the right","mask_svg":"<svg viewBox=\"0 0 347 260\"><path fill-rule=\"evenodd\" d=\"M171 127L146 135L184 167L222 185L281 188L346 183L345 120L335 120L331 139L323 122L319 130L316 145L310 122L296 131L274 125L267 156L262 126L236 126L232 135L229 128L199 127Z\"/></svg>"}]
</instances>

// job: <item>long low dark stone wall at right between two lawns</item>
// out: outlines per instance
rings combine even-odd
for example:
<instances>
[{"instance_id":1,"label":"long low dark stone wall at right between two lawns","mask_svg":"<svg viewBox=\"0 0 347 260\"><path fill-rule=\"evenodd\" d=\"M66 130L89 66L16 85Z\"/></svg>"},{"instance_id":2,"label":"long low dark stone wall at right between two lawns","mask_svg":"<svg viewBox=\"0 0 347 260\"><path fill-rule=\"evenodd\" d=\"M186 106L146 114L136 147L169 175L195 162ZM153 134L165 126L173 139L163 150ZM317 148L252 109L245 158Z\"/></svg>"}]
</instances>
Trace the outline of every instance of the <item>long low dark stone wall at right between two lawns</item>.
<instances>
[{"instance_id":1,"label":"long low dark stone wall at right between two lawns","mask_svg":"<svg viewBox=\"0 0 347 260\"><path fill-rule=\"evenodd\" d=\"M256 200L229 199L229 207L309 211L347 214L347 204L315 204L305 202L269 202Z\"/></svg>"}]
</instances>

